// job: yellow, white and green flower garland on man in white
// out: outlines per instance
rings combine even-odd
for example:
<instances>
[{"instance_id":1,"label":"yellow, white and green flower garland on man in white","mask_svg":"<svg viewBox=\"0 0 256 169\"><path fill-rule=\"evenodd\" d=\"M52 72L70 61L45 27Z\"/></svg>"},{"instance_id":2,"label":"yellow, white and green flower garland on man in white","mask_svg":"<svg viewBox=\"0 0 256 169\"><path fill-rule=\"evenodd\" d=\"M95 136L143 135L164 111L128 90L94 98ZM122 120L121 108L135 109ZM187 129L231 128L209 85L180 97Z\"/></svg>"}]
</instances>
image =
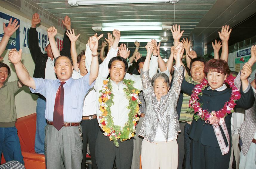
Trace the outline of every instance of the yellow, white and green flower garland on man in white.
<instances>
[{"instance_id":1,"label":"yellow, white and green flower garland on man in white","mask_svg":"<svg viewBox=\"0 0 256 169\"><path fill-rule=\"evenodd\" d=\"M139 115L141 114L139 110L139 100L140 91L133 87L133 80L123 80L124 84L127 86L124 88L124 93L129 100L129 106L127 108L130 110L128 114L128 121L125 123L124 127L121 128L119 125L114 125L113 117L111 116L110 107L114 104L112 93L112 85L110 79L103 81L102 89L99 91L101 93L99 97L99 109L101 111L100 127L104 131L104 135L108 136L110 141L114 141L116 147L119 146L118 139L121 142L124 140L134 137L135 127L137 121L139 120Z\"/></svg>"}]
</instances>

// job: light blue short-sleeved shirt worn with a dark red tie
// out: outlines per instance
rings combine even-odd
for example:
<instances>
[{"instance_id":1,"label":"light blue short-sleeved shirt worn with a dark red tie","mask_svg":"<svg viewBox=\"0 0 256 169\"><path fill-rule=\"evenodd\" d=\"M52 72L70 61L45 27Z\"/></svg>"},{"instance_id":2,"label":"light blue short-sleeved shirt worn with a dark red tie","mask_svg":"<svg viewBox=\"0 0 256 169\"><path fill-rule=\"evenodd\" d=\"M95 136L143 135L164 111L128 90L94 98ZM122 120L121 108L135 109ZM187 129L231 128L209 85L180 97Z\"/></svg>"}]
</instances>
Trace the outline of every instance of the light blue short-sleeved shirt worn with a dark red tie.
<instances>
[{"instance_id":1,"label":"light blue short-sleeved shirt worn with a dark red tie","mask_svg":"<svg viewBox=\"0 0 256 169\"><path fill-rule=\"evenodd\" d=\"M64 87L64 122L81 122L83 116L84 96L94 86L95 81L89 85L90 72L80 79L66 80ZM60 86L60 80L33 78L36 83L36 90L30 88L32 93L40 93L46 98L45 118L53 121L53 109L55 97Z\"/></svg>"}]
</instances>

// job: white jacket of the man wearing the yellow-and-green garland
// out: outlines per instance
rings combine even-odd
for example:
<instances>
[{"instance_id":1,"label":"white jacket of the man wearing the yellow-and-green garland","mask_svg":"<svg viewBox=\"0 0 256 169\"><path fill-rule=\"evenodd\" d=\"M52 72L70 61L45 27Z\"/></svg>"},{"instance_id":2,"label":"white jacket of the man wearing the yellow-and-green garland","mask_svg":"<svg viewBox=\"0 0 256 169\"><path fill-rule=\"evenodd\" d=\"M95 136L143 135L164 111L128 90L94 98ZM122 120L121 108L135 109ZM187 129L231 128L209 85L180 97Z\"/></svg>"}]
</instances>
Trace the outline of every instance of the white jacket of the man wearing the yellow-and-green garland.
<instances>
[{"instance_id":1,"label":"white jacket of the man wearing the yellow-and-green garland","mask_svg":"<svg viewBox=\"0 0 256 169\"><path fill-rule=\"evenodd\" d=\"M90 63L92 60L92 53L90 51L90 48L88 45L86 45L86 52L85 52L85 65L87 70L90 70ZM88 49L88 50L87 50ZM94 89L96 91L96 112L97 112L97 117L100 116L101 111L99 109L99 102L98 98L100 96L99 91L102 88L103 85L103 80L107 79L107 76L109 75L109 70L108 70L108 63L111 58L115 57L117 55L118 49L113 49L112 47L110 48L107 57L104 59L104 61L101 63L99 66L99 74L96 79ZM149 75L151 77L155 75L157 68L158 68L158 58L155 56L152 56L150 63L149 63ZM133 80L134 87L141 90L142 89L142 83L141 83L141 76L140 75L130 75L126 73L124 79L129 79ZM120 125L121 128L124 127L125 123L128 121L128 114L129 114L129 109L127 109L127 106L129 105L129 100L126 98L126 95L124 93L124 87L126 85L123 83L123 81L119 82L116 84L112 80L110 80L112 84L112 92L114 94L113 102L114 104L110 107L111 110L111 115L113 117L113 121L115 125ZM100 124L100 119L98 118L98 123Z\"/></svg>"}]
</instances>

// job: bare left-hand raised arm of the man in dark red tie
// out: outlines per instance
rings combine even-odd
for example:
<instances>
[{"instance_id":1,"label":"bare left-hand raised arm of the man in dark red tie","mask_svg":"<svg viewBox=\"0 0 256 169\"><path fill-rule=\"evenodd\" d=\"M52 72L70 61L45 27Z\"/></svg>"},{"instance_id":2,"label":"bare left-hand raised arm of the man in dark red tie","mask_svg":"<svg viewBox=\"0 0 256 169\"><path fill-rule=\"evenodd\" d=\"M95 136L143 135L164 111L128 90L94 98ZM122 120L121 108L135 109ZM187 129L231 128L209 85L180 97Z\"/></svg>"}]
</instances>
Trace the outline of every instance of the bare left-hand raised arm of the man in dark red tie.
<instances>
[{"instance_id":1,"label":"bare left-hand raised arm of the man in dark red tie","mask_svg":"<svg viewBox=\"0 0 256 169\"><path fill-rule=\"evenodd\" d=\"M19 52L17 52L16 49L11 49L8 54L8 58L13 63L16 70L16 74L21 83L28 87L36 89L34 79L29 75L25 66L21 63L21 55L22 49L20 49Z\"/></svg>"}]
</instances>

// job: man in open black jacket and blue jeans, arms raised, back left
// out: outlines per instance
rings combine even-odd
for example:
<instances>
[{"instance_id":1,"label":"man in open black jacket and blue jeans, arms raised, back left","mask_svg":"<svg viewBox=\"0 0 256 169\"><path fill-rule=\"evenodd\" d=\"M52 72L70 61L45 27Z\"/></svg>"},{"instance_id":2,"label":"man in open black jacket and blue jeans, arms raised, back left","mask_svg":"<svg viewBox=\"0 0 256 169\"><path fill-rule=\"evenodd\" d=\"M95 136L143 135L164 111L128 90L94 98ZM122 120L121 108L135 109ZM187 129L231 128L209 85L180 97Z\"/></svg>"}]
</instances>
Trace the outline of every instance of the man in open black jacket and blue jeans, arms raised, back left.
<instances>
[{"instance_id":1,"label":"man in open black jacket and blue jeans, arms raised, back left","mask_svg":"<svg viewBox=\"0 0 256 169\"><path fill-rule=\"evenodd\" d=\"M36 25L39 24L41 19L38 13L35 13L32 18L32 24L29 30L28 45L30 54L35 63L35 70L33 77L43 78L43 79L53 79L56 80L57 77L54 72L54 57L49 41L44 48L45 54L41 52L40 46L38 46L38 32L36 31ZM71 29L71 22L68 16L65 17L65 21L62 21L67 30ZM70 40L64 33L63 38L63 48L61 50L61 55L70 55ZM36 106L36 138L35 138L35 152L39 154L44 154L44 138L45 132L44 128L46 126L45 120L45 108L46 99L41 94L37 94L39 97L37 99Z\"/></svg>"}]
</instances>

